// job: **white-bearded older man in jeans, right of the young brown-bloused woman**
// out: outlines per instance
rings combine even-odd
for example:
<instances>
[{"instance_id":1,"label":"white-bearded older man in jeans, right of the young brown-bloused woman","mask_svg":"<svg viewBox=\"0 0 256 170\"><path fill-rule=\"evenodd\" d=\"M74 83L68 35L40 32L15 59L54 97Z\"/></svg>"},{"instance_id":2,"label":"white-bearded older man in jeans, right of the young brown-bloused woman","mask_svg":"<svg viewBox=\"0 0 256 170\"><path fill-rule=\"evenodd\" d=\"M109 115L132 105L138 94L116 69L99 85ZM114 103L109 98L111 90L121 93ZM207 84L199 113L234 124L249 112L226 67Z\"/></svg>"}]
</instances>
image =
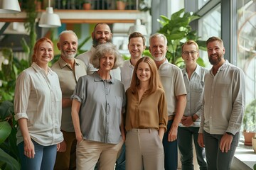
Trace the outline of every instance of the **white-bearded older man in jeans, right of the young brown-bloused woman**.
<instances>
[{"instance_id":1,"label":"white-bearded older man in jeans, right of the young brown-bloused woman","mask_svg":"<svg viewBox=\"0 0 256 170\"><path fill-rule=\"evenodd\" d=\"M167 101L169 121L164 133L164 168L176 170L178 166L178 125L186 107L186 86L181 69L166 59L167 39L156 33L149 38L149 51L159 71Z\"/></svg>"}]
</instances>

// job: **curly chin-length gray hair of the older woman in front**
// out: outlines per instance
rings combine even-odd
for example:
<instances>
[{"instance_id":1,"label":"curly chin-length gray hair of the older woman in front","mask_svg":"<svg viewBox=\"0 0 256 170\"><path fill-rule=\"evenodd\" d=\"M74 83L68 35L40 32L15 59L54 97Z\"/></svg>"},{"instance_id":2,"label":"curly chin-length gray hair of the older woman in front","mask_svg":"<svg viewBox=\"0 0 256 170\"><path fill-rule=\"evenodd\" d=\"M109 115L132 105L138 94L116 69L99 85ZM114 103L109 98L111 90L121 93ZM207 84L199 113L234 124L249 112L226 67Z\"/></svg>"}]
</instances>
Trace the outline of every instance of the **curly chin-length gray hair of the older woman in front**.
<instances>
[{"instance_id":1,"label":"curly chin-length gray hair of the older woman in front","mask_svg":"<svg viewBox=\"0 0 256 170\"><path fill-rule=\"evenodd\" d=\"M111 42L107 42L97 45L95 48L95 52L93 52L92 57L90 57L90 62L92 63L93 67L96 69L100 68L100 59L104 57L106 53L114 55L114 66L112 69L116 69L117 67L121 66L123 60L121 54L117 50L117 47Z\"/></svg>"}]
</instances>

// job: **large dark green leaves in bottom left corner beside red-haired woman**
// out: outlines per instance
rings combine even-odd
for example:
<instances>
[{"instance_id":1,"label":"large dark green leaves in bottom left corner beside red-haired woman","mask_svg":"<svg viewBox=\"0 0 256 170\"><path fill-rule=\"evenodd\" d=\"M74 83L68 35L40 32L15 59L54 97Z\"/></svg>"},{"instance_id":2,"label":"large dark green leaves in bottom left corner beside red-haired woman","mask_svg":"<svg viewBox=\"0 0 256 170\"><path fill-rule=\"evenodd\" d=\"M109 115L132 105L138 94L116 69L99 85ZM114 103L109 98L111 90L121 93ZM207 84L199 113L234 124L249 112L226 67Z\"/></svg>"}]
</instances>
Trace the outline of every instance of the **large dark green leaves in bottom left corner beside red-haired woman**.
<instances>
[{"instance_id":1,"label":"large dark green leaves in bottom left corner beside red-haired woman","mask_svg":"<svg viewBox=\"0 0 256 170\"><path fill-rule=\"evenodd\" d=\"M20 169L16 124L13 103L0 103L0 169Z\"/></svg>"}]
</instances>

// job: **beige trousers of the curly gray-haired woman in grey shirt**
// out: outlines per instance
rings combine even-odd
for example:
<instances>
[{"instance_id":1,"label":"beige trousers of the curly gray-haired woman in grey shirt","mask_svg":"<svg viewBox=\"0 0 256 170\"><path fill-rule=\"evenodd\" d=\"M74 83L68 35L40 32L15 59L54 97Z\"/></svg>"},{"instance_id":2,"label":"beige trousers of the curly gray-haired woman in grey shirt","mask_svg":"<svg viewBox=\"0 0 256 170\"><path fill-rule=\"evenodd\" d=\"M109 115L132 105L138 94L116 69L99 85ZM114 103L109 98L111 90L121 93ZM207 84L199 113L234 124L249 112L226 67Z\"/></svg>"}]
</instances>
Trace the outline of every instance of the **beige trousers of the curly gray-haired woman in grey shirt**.
<instances>
[{"instance_id":1,"label":"beige trousers of the curly gray-haired woman in grey shirt","mask_svg":"<svg viewBox=\"0 0 256 170\"><path fill-rule=\"evenodd\" d=\"M118 144L108 144L90 140L82 140L77 145L77 170L94 170L95 164L99 170L113 170L117 153L124 141Z\"/></svg>"}]
</instances>

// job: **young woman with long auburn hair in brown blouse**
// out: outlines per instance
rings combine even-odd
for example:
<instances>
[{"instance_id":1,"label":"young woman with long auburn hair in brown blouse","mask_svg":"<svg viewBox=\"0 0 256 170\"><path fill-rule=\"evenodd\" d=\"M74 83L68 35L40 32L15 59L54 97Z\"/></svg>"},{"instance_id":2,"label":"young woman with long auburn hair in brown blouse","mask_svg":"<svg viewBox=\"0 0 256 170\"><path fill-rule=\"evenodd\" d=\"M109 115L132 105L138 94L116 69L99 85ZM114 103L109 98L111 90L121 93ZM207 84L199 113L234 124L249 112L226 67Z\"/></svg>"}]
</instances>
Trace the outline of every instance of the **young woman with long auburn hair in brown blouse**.
<instances>
[{"instance_id":1,"label":"young woman with long auburn hair in brown blouse","mask_svg":"<svg viewBox=\"0 0 256 170\"><path fill-rule=\"evenodd\" d=\"M150 57L142 57L135 65L126 94L126 169L163 170L167 104L156 64Z\"/></svg>"}]
</instances>

